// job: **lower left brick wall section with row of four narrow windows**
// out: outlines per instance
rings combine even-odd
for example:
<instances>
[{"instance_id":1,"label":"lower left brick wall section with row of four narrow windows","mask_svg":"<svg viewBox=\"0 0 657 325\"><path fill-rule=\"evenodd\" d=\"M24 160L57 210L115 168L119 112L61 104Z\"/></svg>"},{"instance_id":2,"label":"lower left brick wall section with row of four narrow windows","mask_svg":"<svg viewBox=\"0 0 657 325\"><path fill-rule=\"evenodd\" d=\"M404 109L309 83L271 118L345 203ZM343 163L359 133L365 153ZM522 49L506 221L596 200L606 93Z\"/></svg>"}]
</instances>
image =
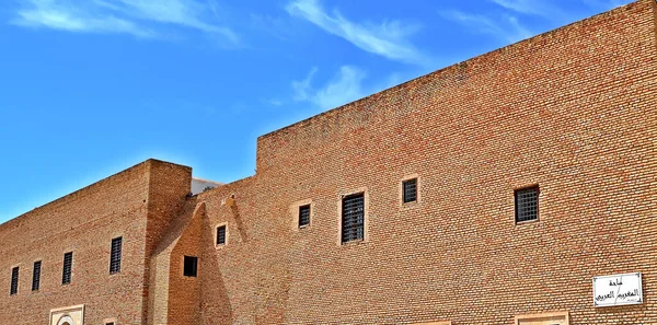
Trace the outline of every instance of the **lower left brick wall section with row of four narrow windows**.
<instances>
[{"instance_id":1,"label":"lower left brick wall section with row of four narrow windows","mask_svg":"<svg viewBox=\"0 0 657 325\"><path fill-rule=\"evenodd\" d=\"M51 309L85 304L87 324L112 317L142 324L148 206L162 169L191 172L150 160L0 225L0 323L47 324ZM111 276L116 236L123 236L122 271ZM64 254L71 251L72 281L62 286ZM35 260L43 260L38 292L31 291ZM16 265L19 293L10 297Z\"/></svg>"}]
</instances>

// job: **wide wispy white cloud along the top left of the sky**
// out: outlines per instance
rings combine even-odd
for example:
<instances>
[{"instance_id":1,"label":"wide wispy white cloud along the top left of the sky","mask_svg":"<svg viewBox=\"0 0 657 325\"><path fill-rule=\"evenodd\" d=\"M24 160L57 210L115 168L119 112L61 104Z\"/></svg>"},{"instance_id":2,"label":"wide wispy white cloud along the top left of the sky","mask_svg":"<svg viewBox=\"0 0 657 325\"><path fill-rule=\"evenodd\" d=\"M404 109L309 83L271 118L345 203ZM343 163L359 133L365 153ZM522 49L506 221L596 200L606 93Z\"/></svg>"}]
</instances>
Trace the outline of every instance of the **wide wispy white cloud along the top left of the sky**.
<instances>
[{"instance_id":1,"label":"wide wispy white cloud along the top left of the sky","mask_svg":"<svg viewBox=\"0 0 657 325\"><path fill-rule=\"evenodd\" d=\"M212 2L210 2L212 3ZM214 7L193 0L28 0L11 23L27 27L78 33L119 33L157 37L165 25L220 35L232 43L238 35L211 22Z\"/></svg>"}]
</instances>

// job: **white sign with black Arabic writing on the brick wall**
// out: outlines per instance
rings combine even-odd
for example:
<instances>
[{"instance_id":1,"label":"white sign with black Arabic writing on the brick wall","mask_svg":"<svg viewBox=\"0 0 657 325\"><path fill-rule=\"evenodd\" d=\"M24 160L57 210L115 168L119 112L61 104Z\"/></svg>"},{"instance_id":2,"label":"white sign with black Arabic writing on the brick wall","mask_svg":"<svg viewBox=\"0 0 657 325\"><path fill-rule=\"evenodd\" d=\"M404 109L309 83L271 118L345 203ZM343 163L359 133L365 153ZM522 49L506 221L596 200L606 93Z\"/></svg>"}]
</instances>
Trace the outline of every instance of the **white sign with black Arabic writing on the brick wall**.
<instances>
[{"instance_id":1,"label":"white sign with black Arabic writing on the brick wall","mask_svg":"<svg viewBox=\"0 0 657 325\"><path fill-rule=\"evenodd\" d=\"M593 278L593 306L643 303L641 272Z\"/></svg>"}]
</instances>

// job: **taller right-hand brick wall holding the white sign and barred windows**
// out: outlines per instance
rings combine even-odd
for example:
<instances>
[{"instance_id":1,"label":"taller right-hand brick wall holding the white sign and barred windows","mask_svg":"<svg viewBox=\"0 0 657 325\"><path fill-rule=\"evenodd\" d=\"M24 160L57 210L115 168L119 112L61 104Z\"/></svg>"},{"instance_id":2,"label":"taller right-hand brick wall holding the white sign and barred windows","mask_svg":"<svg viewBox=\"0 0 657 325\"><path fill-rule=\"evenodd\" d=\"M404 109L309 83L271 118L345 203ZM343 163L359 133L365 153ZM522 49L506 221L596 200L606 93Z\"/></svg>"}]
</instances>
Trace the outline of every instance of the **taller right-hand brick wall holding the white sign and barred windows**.
<instances>
[{"instance_id":1,"label":"taller right-hand brick wall holding the white sign and barred windows","mask_svg":"<svg viewBox=\"0 0 657 325\"><path fill-rule=\"evenodd\" d=\"M655 3L642 0L258 139L257 174L199 195L204 324L657 322ZM417 174L422 200L401 207ZM514 189L540 184L540 221ZM338 244L366 188L368 240ZM221 206L235 194L237 207ZM312 199L311 225L290 206ZM593 276L645 303L593 309Z\"/></svg>"}]
</instances>

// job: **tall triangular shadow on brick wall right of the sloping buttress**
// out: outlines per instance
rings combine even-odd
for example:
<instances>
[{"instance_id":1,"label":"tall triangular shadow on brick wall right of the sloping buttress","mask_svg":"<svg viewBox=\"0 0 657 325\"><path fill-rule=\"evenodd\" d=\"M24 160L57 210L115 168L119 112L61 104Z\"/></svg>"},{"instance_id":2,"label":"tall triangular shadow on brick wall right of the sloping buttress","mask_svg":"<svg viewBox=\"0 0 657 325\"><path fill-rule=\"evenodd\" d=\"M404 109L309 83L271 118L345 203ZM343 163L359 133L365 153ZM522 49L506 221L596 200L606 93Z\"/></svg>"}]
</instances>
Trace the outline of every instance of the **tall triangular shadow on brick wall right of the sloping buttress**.
<instances>
[{"instance_id":1,"label":"tall triangular shadow on brick wall right of the sloping buttress","mask_svg":"<svg viewBox=\"0 0 657 325\"><path fill-rule=\"evenodd\" d=\"M239 219L239 211L237 207L231 207L235 220ZM244 240L241 227L240 235ZM201 258L200 258L200 320L201 324L212 325L230 325L233 323L232 306L228 298L228 290L221 276L221 269L217 262L218 255L214 245L214 227L210 224L210 220L205 214L203 218L203 234L201 240ZM209 243L209 244L206 244Z\"/></svg>"}]
</instances>

